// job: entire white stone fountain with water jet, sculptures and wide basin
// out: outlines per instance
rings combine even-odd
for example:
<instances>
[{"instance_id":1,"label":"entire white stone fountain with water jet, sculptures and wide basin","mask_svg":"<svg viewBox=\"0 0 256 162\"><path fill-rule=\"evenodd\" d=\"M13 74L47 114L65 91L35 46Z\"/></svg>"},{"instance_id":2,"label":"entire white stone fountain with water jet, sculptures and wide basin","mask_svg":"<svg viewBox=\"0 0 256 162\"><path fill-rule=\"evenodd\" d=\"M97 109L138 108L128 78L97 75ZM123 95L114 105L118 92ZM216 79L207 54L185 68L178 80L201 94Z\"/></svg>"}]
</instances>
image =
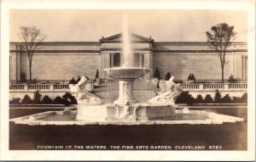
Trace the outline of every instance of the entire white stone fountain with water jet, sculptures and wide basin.
<instances>
[{"instance_id":1,"label":"entire white stone fountain with water jet, sculptures and wide basin","mask_svg":"<svg viewBox=\"0 0 256 162\"><path fill-rule=\"evenodd\" d=\"M131 50L131 36L127 18L123 25L123 63L121 67L103 70L108 77L119 81L119 98L113 103L102 103L102 99L86 91L88 78L84 75L77 85L70 85L70 91L77 99L77 111L49 111L12 119L16 124L28 125L87 125L87 124L222 124L223 122L243 121L242 118L219 115L207 111L178 108L176 98L181 94L181 85L174 83L172 76L164 88L147 103L139 103L134 97L133 83L142 78L149 70L135 67L134 53ZM55 120L58 115L69 120ZM75 119L74 119L75 118Z\"/></svg>"}]
</instances>

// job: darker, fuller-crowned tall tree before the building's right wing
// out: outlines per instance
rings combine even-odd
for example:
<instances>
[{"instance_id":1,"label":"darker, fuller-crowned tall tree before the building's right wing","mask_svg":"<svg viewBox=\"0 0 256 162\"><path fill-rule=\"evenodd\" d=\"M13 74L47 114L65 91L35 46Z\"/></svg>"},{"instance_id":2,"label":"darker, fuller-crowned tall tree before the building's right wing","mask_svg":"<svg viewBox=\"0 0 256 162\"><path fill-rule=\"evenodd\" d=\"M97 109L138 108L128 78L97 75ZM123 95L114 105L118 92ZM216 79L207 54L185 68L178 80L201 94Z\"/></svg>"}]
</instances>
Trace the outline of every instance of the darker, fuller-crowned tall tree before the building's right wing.
<instances>
[{"instance_id":1,"label":"darker, fuller-crowned tall tree before the building's right wing","mask_svg":"<svg viewBox=\"0 0 256 162\"><path fill-rule=\"evenodd\" d=\"M207 31L206 34L208 46L218 53L221 66L221 80L224 83L224 65L228 63L226 58L227 49L231 46L232 41L236 39L234 26L226 23L213 25L211 31Z\"/></svg>"}]
</instances>

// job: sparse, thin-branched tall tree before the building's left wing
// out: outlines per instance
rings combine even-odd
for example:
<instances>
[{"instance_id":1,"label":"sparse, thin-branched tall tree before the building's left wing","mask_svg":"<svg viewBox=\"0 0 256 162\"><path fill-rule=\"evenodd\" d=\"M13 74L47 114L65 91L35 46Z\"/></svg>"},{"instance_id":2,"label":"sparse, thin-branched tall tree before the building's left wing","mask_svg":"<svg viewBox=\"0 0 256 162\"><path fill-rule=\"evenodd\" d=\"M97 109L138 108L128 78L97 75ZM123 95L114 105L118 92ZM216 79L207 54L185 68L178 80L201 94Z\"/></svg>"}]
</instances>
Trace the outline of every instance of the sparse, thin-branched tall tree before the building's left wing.
<instances>
[{"instance_id":1,"label":"sparse, thin-branched tall tree before the building's left wing","mask_svg":"<svg viewBox=\"0 0 256 162\"><path fill-rule=\"evenodd\" d=\"M32 83L32 58L38 48L38 45L44 41L46 36L43 36L41 30L35 26L20 26L18 34L20 41L23 44L24 50L27 53L29 63L29 81Z\"/></svg>"}]
</instances>

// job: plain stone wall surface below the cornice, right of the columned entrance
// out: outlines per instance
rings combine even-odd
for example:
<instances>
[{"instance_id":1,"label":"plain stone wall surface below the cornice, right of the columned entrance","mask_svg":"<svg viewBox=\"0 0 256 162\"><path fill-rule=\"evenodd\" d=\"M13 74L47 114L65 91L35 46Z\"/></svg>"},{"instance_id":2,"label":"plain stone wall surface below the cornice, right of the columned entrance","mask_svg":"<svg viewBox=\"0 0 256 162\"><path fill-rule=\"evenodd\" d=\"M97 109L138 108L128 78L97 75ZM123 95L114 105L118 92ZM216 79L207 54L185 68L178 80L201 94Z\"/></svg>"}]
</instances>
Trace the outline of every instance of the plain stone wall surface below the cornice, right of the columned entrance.
<instances>
[{"instance_id":1,"label":"plain stone wall surface below the cornice, right of the columned entrance","mask_svg":"<svg viewBox=\"0 0 256 162\"><path fill-rule=\"evenodd\" d=\"M224 80L231 74L241 79L241 54L228 54L228 57L230 63L224 67ZM153 60L154 70L158 68L163 79L171 72L180 81L187 81L190 73L194 73L197 80L221 80L220 61L215 53L154 53Z\"/></svg>"}]
</instances>

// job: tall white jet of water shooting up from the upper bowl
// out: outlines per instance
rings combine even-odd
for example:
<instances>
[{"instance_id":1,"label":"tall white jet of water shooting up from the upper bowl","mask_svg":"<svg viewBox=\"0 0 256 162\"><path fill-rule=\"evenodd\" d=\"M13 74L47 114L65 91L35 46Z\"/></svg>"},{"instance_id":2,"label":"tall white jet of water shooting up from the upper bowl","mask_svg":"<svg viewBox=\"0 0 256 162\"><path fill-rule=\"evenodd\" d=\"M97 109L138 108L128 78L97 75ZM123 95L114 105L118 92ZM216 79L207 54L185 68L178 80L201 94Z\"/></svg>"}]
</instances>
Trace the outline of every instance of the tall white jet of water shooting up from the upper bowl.
<instances>
[{"instance_id":1,"label":"tall white jet of water shooting up from the upper bowl","mask_svg":"<svg viewBox=\"0 0 256 162\"><path fill-rule=\"evenodd\" d=\"M128 15L123 15L123 33L122 33L122 48L123 48L123 64L122 67L133 67L133 53L131 50L131 32L129 31Z\"/></svg>"}]
</instances>

